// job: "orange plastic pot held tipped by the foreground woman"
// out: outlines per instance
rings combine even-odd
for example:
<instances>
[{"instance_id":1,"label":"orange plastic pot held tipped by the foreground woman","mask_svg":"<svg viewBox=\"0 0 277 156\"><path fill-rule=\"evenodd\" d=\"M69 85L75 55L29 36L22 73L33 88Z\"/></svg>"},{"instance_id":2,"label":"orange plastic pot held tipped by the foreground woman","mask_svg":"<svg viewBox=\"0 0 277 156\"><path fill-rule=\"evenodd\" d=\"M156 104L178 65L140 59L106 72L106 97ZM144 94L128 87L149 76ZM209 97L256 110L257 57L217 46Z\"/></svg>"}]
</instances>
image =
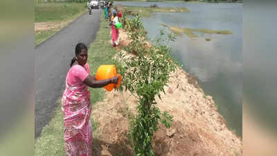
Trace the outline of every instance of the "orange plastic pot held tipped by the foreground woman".
<instances>
[{"instance_id":1,"label":"orange plastic pot held tipped by the foreground woman","mask_svg":"<svg viewBox=\"0 0 277 156\"><path fill-rule=\"evenodd\" d=\"M109 84L106 85L104 88L108 91L111 92L114 87L118 88L121 83L121 75L116 73L116 66L115 65L101 65L98 67L96 71L96 80L105 80L107 78L112 78L114 76L118 76L118 83L117 85Z\"/></svg>"}]
</instances>

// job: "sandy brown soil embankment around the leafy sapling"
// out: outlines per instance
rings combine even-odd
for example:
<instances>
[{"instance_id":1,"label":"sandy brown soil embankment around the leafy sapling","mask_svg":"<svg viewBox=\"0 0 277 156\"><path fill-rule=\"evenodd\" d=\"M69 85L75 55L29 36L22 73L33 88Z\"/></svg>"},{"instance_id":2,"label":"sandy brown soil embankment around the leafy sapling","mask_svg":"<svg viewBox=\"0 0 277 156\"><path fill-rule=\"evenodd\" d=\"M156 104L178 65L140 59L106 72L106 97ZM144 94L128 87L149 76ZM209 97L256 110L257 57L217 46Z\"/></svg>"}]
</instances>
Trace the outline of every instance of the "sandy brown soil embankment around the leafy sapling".
<instances>
[{"instance_id":1,"label":"sandy brown soil embankment around the leafy sapling","mask_svg":"<svg viewBox=\"0 0 277 156\"><path fill-rule=\"evenodd\" d=\"M120 46L126 46L127 33L120 31ZM127 53L126 53L127 54ZM134 57L127 54L128 58ZM206 96L197 82L181 68L170 73L166 95L156 98L161 111L173 116L170 129L159 125L153 137L156 155L229 156L242 155L242 140L228 128L217 112L211 96ZM93 141L93 155L133 155L129 146L128 116L134 114L136 100L129 92L106 92L105 100L93 107L99 136ZM101 154L100 154L101 153Z\"/></svg>"}]
</instances>

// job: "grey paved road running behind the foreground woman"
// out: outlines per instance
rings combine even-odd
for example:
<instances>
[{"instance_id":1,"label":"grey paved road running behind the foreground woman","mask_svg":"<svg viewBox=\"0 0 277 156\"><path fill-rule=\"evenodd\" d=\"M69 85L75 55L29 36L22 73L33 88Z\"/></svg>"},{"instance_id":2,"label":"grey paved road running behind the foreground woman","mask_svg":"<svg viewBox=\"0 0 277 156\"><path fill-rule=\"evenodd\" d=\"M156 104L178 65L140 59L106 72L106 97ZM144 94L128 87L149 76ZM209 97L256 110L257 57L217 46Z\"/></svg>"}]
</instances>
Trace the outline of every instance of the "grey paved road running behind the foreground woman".
<instances>
[{"instance_id":1,"label":"grey paved road running behind the foreground woman","mask_svg":"<svg viewBox=\"0 0 277 156\"><path fill-rule=\"evenodd\" d=\"M100 26L101 10L86 12L69 26L35 47L35 138L51 120L62 96L64 80L75 45L83 42L87 46L96 38Z\"/></svg>"}]
</instances>

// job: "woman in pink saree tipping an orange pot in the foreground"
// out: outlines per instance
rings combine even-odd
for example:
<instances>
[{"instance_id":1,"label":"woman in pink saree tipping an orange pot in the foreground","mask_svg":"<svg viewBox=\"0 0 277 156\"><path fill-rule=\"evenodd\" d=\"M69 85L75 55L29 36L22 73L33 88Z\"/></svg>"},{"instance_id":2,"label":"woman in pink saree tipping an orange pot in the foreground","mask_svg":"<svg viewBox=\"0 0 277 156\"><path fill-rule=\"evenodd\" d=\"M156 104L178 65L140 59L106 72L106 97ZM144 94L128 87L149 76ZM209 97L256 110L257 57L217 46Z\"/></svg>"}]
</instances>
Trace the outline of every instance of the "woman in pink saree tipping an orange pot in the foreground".
<instances>
[{"instance_id":1,"label":"woman in pink saree tipping an orange pot in the foreground","mask_svg":"<svg viewBox=\"0 0 277 156\"><path fill-rule=\"evenodd\" d=\"M64 114L64 146L68 156L91 156L91 96L88 87L104 87L116 84L118 76L106 80L96 80L91 76L87 64L87 47L79 43L75 47L75 57L66 76L66 89L62 96Z\"/></svg>"}]
</instances>

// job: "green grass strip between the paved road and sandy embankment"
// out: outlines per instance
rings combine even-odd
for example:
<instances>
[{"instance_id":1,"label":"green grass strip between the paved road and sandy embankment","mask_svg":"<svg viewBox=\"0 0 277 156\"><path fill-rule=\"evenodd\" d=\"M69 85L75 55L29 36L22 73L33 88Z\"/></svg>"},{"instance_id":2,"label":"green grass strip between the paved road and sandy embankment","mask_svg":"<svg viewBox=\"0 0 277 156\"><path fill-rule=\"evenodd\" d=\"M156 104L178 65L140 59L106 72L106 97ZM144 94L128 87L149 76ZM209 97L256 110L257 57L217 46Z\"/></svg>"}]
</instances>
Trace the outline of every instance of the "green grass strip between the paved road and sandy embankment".
<instances>
[{"instance_id":1,"label":"green grass strip between the paved road and sandy embankment","mask_svg":"<svg viewBox=\"0 0 277 156\"><path fill-rule=\"evenodd\" d=\"M111 64L112 56L116 53L115 49L111 48L109 40L110 35L109 22L101 17L100 29L96 35L96 40L91 44L89 49L88 63L91 68L91 74L96 73L100 64ZM77 43L76 43L77 44ZM104 97L104 89L90 89L91 91L91 104L95 105L96 102L102 101ZM35 155L58 155L65 156L64 153L64 125L63 114L61 110L61 101L57 101L57 110L55 116L48 125L42 130L41 137L35 140ZM93 137L98 137L97 127L98 123L91 117L93 125Z\"/></svg>"}]
</instances>

